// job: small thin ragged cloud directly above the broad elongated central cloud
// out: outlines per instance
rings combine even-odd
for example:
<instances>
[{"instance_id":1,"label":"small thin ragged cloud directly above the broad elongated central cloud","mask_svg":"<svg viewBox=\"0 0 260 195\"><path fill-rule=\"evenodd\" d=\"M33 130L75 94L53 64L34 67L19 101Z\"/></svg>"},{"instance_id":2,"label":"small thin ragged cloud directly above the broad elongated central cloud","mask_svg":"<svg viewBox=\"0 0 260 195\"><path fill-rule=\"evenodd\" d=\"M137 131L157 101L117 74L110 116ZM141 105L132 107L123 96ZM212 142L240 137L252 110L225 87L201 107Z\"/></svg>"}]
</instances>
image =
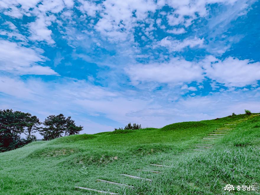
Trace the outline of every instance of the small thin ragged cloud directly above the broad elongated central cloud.
<instances>
[{"instance_id":1,"label":"small thin ragged cloud directly above the broad elongated central cloud","mask_svg":"<svg viewBox=\"0 0 260 195\"><path fill-rule=\"evenodd\" d=\"M168 48L169 51L182 51L186 47L194 48L199 47L202 48L204 43L204 38L186 38L183 41L176 40L171 38L170 36L163 38L160 40L160 42L155 45L157 47L158 45Z\"/></svg>"}]
</instances>

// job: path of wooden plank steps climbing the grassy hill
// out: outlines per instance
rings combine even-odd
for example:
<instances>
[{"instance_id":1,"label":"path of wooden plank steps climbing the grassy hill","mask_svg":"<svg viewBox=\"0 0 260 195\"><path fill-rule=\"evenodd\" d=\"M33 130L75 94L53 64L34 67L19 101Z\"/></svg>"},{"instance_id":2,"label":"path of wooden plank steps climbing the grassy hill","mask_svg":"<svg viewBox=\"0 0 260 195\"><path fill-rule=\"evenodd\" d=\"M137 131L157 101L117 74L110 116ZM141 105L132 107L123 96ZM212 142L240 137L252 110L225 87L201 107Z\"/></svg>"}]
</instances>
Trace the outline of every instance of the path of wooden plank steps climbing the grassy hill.
<instances>
[{"instance_id":1,"label":"path of wooden plank steps climbing the grassy hill","mask_svg":"<svg viewBox=\"0 0 260 195\"><path fill-rule=\"evenodd\" d=\"M193 152L204 152L207 149L210 149L214 146L214 141L216 141L218 138L225 136L226 134L228 134L230 131L233 130L233 128L230 127L234 127L236 124L241 123L243 121L247 121L248 119L254 118L255 116L260 116L260 114L255 114L255 115L251 115L250 117L246 117L244 119L239 119L237 121L239 122L233 122L233 123L228 123L228 124L223 124L223 127L220 127L219 129L213 130L213 132L208 133L208 137L203 137L202 138L202 143L198 143L194 145L194 148L189 149L190 151ZM180 152L181 154L192 154L189 151L183 151ZM176 155L174 155L176 156ZM173 162L171 160L166 160L167 162ZM157 165L157 164L150 164L151 166L157 166L157 167L171 167L169 165ZM155 171L155 170L143 170L143 169L137 169L139 171L144 171L144 172L151 172L151 173L163 173L161 171ZM135 179L140 179L140 180L145 180L145 181L150 181L152 182L151 179L147 179L147 178L142 178L142 177L138 177L138 176L132 176L132 175L127 175L127 174L120 174L121 176L126 176L126 177L130 177L130 178L135 178ZM127 185L127 184L122 184L122 183L116 183L116 182L112 182L112 181L106 181L106 180L102 180L102 179L98 179L98 182L104 182L104 183L109 183L109 184L113 184L113 185L118 185L118 186L124 186L124 187L130 187L130 188L134 188L134 186L131 185ZM117 194L114 192L107 192L107 191L102 191L102 190L96 190L96 189L90 189L90 188L85 188L85 187L79 187L79 186L75 186L75 188L77 189L84 189L84 190L88 190L88 191L95 191L95 192L99 192L99 193L103 193L103 194Z\"/></svg>"}]
</instances>

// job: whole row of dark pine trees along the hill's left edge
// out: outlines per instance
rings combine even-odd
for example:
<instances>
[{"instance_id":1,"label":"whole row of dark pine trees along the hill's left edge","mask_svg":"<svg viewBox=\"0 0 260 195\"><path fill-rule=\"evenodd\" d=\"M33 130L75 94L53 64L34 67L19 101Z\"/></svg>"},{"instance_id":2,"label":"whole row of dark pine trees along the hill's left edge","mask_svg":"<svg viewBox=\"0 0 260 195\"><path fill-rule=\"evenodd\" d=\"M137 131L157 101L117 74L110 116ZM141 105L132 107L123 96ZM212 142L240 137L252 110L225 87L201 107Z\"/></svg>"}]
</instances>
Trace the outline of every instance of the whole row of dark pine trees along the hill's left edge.
<instances>
[{"instance_id":1,"label":"whole row of dark pine trees along the hill's left edge","mask_svg":"<svg viewBox=\"0 0 260 195\"><path fill-rule=\"evenodd\" d=\"M43 125L43 126L41 126ZM63 114L50 115L44 122L30 113L13 111L12 109L0 110L0 152L13 150L36 141L34 135L39 132L43 140L79 134L82 126L76 126L71 117Z\"/></svg>"}]
</instances>

